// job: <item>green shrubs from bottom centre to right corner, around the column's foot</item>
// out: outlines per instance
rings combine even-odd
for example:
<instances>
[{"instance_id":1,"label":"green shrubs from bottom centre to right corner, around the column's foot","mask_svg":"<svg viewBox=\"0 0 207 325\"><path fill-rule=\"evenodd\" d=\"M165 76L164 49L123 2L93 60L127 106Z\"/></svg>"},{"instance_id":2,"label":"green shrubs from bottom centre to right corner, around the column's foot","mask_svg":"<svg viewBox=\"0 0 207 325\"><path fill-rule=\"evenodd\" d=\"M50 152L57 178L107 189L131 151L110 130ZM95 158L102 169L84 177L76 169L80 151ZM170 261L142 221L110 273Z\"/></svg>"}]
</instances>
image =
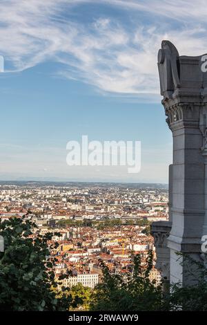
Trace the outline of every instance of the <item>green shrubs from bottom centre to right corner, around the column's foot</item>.
<instances>
[{"instance_id":1,"label":"green shrubs from bottom centre to right corner, around the column's foot","mask_svg":"<svg viewBox=\"0 0 207 325\"><path fill-rule=\"evenodd\" d=\"M184 257L186 261L189 258ZM90 310L108 311L150 311L150 310L192 310L207 311L207 270L204 264L190 261L191 270L199 272L197 283L181 287L170 286L168 293L163 293L160 286L150 282L152 252L146 265L142 265L139 255L134 257L134 271L126 275L111 274L103 265L103 282L94 290ZM191 271L190 271L191 272ZM190 274L189 274L190 276Z\"/></svg>"}]
</instances>

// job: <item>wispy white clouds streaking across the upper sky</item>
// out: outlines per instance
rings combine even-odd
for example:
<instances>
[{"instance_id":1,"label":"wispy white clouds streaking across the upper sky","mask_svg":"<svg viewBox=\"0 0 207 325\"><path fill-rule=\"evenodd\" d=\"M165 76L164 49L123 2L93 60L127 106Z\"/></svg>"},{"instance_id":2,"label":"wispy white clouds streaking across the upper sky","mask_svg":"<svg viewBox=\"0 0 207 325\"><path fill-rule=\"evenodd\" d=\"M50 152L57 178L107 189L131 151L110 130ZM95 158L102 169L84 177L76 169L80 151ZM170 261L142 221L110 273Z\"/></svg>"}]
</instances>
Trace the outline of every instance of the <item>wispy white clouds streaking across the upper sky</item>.
<instances>
[{"instance_id":1,"label":"wispy white clouds streaking across the upper sky","mask_svg":"<svg viewBox=\"0 0 207 325\"><path fill-rule=\"evenodd\" d=\"M110 14L91 15L87 23L72 15L74 8L91 2L127 8L126 15L144 12L148 24L137 22L127 28ZM50 60L63 64L59 71L63 77L105 92L148 97L159 93L161 40L170 39L181 54L205 53L206 15L202 0L6 0L0 3L0 54L10 64L8 71ZM166 20L160 24L159 17Z\"/></svg>"}]
</instances>

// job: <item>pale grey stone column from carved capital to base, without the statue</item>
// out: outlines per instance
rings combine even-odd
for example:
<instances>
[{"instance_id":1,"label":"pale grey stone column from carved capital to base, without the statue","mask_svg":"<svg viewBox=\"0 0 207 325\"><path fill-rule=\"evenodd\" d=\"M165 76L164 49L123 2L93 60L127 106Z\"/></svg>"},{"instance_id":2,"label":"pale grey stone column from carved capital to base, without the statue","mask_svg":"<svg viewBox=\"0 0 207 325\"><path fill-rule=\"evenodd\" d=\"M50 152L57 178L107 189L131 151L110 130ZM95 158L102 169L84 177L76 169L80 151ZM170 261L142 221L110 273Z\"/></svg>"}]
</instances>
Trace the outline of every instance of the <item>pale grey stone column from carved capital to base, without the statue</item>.
<instances>
[{"instance_id":1,"label":"pale grey stone column from carved capital to base, without the statue","mask_svg":"<svg viewBox=\"0 0 207 325\"><path fill-rule=\"evenodd\" d=\"M176 116L177 111L180 115ZM182 257L178 259L177 252L187 253L193 259L198 259L200 252L205 211L199 105L166 105L166 113L170 115L173 136L172 229L168 237L170 281L188 284L193 281L189 274L190 265Z\"/></svg>"}]
</instances>

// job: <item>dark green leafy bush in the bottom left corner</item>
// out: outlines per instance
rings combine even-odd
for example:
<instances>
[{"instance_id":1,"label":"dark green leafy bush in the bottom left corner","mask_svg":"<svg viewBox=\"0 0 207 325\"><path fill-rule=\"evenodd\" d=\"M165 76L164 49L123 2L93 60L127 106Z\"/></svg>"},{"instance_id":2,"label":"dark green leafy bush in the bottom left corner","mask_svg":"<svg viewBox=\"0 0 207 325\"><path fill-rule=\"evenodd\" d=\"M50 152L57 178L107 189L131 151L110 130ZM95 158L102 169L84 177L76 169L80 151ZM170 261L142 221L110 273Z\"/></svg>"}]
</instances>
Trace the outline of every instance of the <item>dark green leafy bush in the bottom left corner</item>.
<instances>
[{"instance_id":1,"label":"dark green leafy bush in the bottom left corner","mask_svg":"<svg viewBox=\"0 0 207 325\"><path fill-rule=\"evenodd\" d=\"M0 223L5 250L0 253L0 310L67 310L71 297L57 298L57 288L48 259L52 234L32 239L34 223L13 218Z\"/></svg>"}]
</instances>

